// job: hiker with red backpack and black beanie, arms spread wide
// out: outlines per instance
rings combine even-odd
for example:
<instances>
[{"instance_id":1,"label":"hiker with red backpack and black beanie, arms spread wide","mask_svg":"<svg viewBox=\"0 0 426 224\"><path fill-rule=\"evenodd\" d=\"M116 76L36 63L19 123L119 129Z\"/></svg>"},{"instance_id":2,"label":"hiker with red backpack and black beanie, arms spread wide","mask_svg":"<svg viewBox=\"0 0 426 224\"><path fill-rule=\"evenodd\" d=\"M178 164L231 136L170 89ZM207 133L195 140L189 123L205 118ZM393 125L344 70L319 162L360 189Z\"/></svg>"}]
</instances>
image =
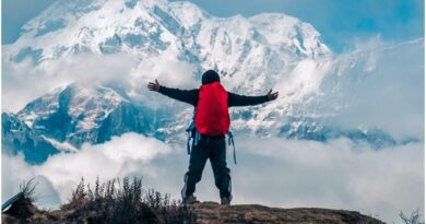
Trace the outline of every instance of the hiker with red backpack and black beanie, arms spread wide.
<instances>
[{"instance_id":1,"label":"hiker with red backpack and black beanie, arms spread wide","mask_svg":"<svg viewBox=\"0 0 426 224\"><path fill-rule=\"evenodd\" d=\"M221 203L229 204L230 175L226 166L226 143L225 134L229 129L228 107L250 106L273 101L279 93L272 93L262 96L244 96L226 92L221 85L218 74L209 70L203 73L201 87L194 90L169 89L155 80L150 82L150 91L158 92L174 99L188 103L196 107L194 114L194 141L189 158L189 170L185 175L185 186L181 190L184 203L194 203L197 201L193 192L196 185L201 180L205 162L210 158L214 173L215 185L220 190Z\"/></svg>"}]
</instances>

